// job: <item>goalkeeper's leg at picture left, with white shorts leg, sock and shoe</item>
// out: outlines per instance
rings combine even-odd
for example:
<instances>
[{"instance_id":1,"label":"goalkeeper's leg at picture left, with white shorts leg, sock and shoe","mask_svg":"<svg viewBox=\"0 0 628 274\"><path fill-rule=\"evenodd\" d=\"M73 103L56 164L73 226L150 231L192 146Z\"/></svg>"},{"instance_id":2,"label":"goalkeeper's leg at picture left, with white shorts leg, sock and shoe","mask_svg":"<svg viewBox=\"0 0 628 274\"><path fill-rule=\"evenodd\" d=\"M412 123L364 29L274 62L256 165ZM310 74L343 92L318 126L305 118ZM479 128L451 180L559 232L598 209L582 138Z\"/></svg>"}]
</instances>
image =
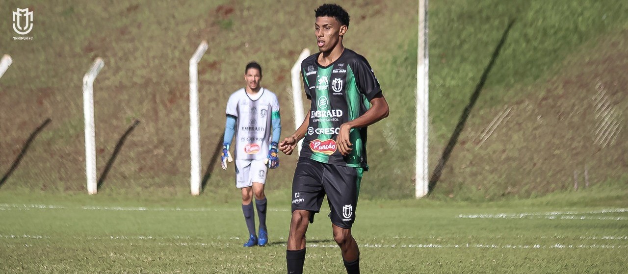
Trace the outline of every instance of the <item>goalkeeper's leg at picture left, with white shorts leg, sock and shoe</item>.
<instances>
[{"instance_id":1,"label":"goalkeeper's leg at picture left, with white shorts leg, sock and shoe","mask_svg":"<svg viewBox=\"0 0 628 274\"><path fill-rule=\"evenodd\" d=\"M244 243L245 247L257 245L257 234L255 233L255 211L253 209L253 189L249 173L251 171L251 161L236 160L236 187L242 192L242 213L246 227L249 229L249 240Z\"/></svg>"}]
</instances>

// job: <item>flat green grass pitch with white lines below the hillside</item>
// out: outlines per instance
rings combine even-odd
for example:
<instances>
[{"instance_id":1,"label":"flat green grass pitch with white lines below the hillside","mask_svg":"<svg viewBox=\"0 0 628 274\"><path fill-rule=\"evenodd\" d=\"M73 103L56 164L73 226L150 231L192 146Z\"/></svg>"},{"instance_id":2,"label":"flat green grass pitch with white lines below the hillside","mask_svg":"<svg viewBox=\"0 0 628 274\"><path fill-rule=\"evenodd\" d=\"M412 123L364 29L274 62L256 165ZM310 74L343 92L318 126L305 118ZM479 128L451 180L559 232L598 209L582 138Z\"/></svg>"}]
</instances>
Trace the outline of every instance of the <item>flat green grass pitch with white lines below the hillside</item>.
<instances>
[{"instance_id":1,"label":"flat green grass pitch with white lines below the hillside","mask_svg":"<svg viewBox=\"0 0 628 274\"><path fill-rule=\"evenodd\" d=\"M627 194L360 201L360 265L363 273L625 273ZM288 196L269 194L269 246L243 248L237 202L0 192L0 272L285 273ZM308 229L306 273L344 271L327 213Z\"/></svg>"}]
</instances>

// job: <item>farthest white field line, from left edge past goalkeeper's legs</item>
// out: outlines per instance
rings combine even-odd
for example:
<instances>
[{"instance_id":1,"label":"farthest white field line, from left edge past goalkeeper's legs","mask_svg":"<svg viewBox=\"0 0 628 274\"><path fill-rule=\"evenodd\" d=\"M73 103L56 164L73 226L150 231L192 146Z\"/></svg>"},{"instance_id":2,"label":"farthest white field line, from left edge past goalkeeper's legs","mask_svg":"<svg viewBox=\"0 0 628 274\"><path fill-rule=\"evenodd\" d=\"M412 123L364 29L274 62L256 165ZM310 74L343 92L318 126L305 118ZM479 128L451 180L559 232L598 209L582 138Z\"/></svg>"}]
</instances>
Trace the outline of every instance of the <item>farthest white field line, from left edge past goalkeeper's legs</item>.
<instances>
[{"instance_id":1,"label":"farthest white field line, from left edge past goalkeeper's legs","mask_svg":"<svg viewBox=\"0 0 628 274\"><path fill-rule=\"evenodd\" d=\"M114 210L114 211L241 211L236 208L144 208L122 206L55 206L51 204L0 204L1 210L30 210L30 209L87 209L87 210ZM289 211L289 209L266 209L268 211Z\"/></svg>"}]
</instances>

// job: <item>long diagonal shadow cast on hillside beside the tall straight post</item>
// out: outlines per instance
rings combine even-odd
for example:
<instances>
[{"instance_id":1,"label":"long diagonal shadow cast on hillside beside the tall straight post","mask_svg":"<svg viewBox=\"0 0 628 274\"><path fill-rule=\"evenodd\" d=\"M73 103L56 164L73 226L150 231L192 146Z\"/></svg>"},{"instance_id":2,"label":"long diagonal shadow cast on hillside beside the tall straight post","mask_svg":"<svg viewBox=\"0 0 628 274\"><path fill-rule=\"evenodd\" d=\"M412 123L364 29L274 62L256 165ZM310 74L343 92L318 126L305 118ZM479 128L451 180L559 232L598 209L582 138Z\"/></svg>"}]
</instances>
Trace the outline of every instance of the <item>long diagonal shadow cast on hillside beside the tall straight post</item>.
<instances>
[{"instance_id":1,"label":"long diagonal shadow cast on hillside beside the tall straight post","mask_svg":"<svg viewBox=\"0 0 628 274\"><path fill-rule=\"evenodd\" d=\"M467 123L469 114L471 113L471 110L473 109L475 102L477 102L477 99L480 97L480 92L482 92L482 88L484 88L484 84L486 83L487 78L489 78L490 70L493 68L493 65L495 65L495 60L497 60L497 56L499 56L499 51L502 49L502 46L504 46L504 43L506 43L506 38L512 28L512 25L514 24L514 21L515 20L512 19L510 23L508 24L508 26L506 27L506 29L504 30L504 34L502 34L502 39L499 40L497 47L495 47L495 51L493 51L493 55L490 58L489 65L487 65L486 68L484 69L484 73L482 73L482 76L480 77L480 82L478 82L477 85L475 86L475 90L471 94L471 97L469 98L469 102L467 106L462 111L462 115L460 115L460 119L458 120L456 129L453 130L452 137L450 137L449 142L447 143L447 147L445 147L445 150L443 150L443 154L438 160L438 164L436 164L436 168L434 169L434 172L431 174L430 184L428 186L429 187L428 194L431 194L431 192L436 187L436 184L438 184L438 180L440 179L440 176L443 174L443 168L445 167L445 164L447 164L447 161L449 160L450 155L452 155L453 147L455 147L455 145L457 144L458 137L460 137L460 133L462 132L462 129L464 129L465 124Z\"/></svg>"}]
</instances>

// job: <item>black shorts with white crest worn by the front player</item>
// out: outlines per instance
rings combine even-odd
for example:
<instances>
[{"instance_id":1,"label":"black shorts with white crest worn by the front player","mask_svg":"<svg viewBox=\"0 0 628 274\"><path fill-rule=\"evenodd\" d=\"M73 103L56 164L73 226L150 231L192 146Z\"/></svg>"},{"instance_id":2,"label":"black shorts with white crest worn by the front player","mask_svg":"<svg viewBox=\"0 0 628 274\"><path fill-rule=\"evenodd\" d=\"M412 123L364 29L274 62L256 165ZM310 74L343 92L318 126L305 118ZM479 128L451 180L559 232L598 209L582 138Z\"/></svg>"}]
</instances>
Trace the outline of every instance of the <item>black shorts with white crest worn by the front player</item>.
<instances>
[{"instance_id":1,"label":"black shorts with white crest worn by the front player","mask_svg":"<svg viewBox=\"0 0 628 274\"><path fill-rule=\"evenodd\" d=\"M335 166L299 158L292 180L292 212L297 209L310 211L310 223L313 223L314 214L320 212L327 194L332 223L340 228L351 228L362 172L361 167Z\"/></svg>"}]
</instances>

